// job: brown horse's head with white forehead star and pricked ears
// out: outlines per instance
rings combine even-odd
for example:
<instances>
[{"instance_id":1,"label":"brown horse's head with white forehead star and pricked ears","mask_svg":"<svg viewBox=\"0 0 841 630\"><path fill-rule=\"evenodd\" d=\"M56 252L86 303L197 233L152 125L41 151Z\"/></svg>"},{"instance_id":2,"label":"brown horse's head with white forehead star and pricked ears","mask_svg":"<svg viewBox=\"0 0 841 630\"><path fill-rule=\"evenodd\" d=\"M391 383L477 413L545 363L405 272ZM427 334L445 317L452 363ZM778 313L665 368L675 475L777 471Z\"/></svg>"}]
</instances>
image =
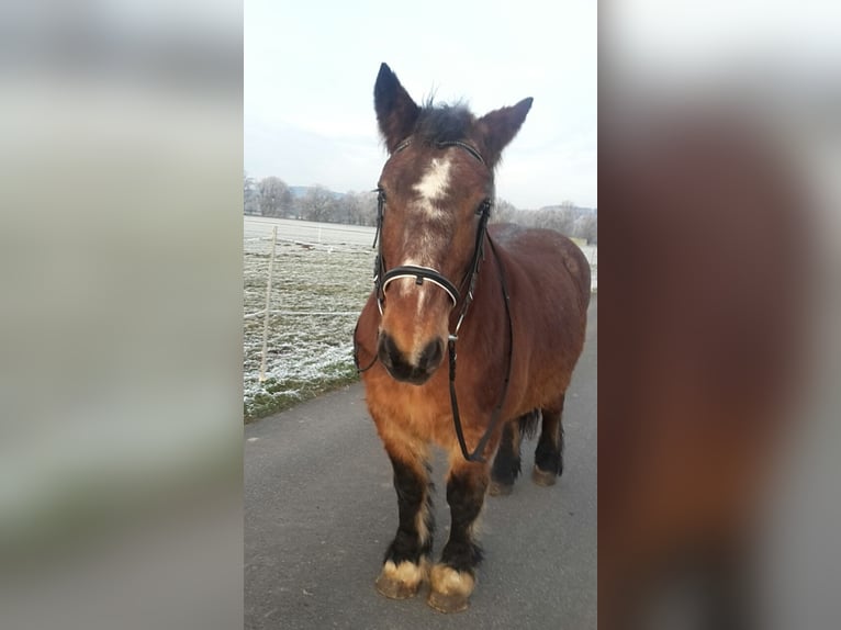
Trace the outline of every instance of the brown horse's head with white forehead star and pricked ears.
<instances>
[{"instance_id":1,"label":"brown horse's head with white forehead star and pricked ears","mask_svg":"<svg viewBox=\"0 0 841 630\"><path fill-rule=\"evenodd\" d=\"M441 364L479 262L494 166L530 108L525 99L481 119L461 105L422 108L380 67L374 109L390 158L378 184L378 356L400 381L425 383Z\"/></svg>"}]
</instances>

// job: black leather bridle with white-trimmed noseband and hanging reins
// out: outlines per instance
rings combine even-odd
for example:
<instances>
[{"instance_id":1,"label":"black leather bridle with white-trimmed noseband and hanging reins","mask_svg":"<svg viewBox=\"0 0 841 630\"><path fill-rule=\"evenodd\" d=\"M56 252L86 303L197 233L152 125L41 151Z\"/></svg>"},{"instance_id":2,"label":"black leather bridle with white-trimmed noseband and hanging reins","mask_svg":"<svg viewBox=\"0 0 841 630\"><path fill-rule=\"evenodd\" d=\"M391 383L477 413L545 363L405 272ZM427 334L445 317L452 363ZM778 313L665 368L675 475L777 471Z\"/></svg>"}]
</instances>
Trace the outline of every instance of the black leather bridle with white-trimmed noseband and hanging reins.
<instances>
[{"instance_id":1,"label":"black leather bridle with white-trimmed noseband and hanging reins","mask_svg":"<svg viewBox=\"0 0 841 630\"><path fill-rule=\"evenodd\" d=\"M405 149L411 143L412 143L412 138L407 138L403 140L400 145L397 145L394 151L392 151L392 156ZM466 142L462 142L462 140L440 142L440 143L437 143L436 146L438 148L447 148L451 146L460 147L464 149L466 151L468 151L470 155L472 155L476 160L479 160L480 162L486 166L486 162L482 158L482 155L473 146L471 146L470 144ZM502 262L500 262L500 257L496 252L496 247L493 240L491 239L491 235L487 233L487 221L491 217L492 202L490 199L483 200L482 203L479 204L479 207L476 207L476 211L475 211L475 213L479 215L479 227L476 229L476 239L475 239L475 245L473 247L473 256L471 258L470 265L468 266L468 271L460 284L461 290L463 290L464 286L467 286L467 293L462 301L461 291L459 290L459 288L457 288L455 283L452 283L448 278L446 278L442 273L440 273L436 269L431 269L429 267L420 267L416 265L404 265L401 267L394 267L393 269L385 271L385 259L382 254L382 239L380 238L380 235L382 233L382 224L383 224L384 210L385 210L385 193L381 188L378 188L375 192L378 193L377 232L374 233L373 247L377 248L377 259L374 261L373 283L374 283L374 293L377 295L377 306L380 311L380 315L382 316L382 312L383 312L383 304L385 301L385 289L390 282L399 278L414 278L416 284L423 284L425 280L428 280L429 282L439 286L447 293L447 295L452 301L452 308L456 308L459 305L459 302L461 302L461 310L456 319L456 325L452 328L452 330L449 331L448 341L447 341L447 349L449 353L449 368L450 368L450 404L452 406L452 423L456 428L456 437L458 438L459 447L461 448L461 453L464 457L464 459L472 462L484 463L485 460L484 458L481 457L480 453L484 450L485 446L487 445L487 441L491 439L491 435L493 435L493 431L500 421L500 415L501 415L502 407L503 407L503 404L505 403L505 397L508 391L508 382L511 381L511 363L512 363L511 358L512 358L512 350L514 347L514 331L513 331L512 319L511 319L511 297L508 295L508 286L505 280L505 273L503 271ZM502 395L500 396L500 401L494 407L494 410L491 415L491 423L489 424L484 435L479 440L479 443L476 445L475 449L471 453L468 451L468 447L464 441L464 431L461 426L461 417L459 415L458 398L456 396L456 357L457 357L456 341L458 341L458 334L459 334L459 330L461 329L461 324L464 320L464 316L468 313L468 308L470 308L470 305L473 302L473 290L475 289L476 279L479 277L479 268L481 266L482 260L484 260L485 240L491 246L491 251L493 252L494 260L496 261L496 270L500 277L500 286L502 289L503 300L505 303L505 315L506 315L506 319L508 324L507 368L505 372L505 382L503 384ZM357 328L358 326L359 326L359 323L357 323ZM373 367L373 364L377 362L378 353L374 352L373 359L368 365L366 365L365 368L360 368L356 335L357 335L357 330L354 330L354 362L356 364L357 372L361 373L367 370L370 370Z\"/></svg>"}]
</instances>

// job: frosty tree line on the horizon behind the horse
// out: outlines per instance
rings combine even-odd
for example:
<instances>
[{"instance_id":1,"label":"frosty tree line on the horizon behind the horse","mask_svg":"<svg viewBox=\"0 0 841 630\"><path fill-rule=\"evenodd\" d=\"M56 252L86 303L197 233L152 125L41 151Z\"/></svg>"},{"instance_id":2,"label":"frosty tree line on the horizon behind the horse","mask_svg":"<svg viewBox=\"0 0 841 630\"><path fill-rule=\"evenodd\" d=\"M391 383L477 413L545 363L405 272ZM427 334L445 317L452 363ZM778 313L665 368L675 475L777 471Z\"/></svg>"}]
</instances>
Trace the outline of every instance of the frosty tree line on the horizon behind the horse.
<instances>
[{"instance_id":1,"label":"frosty tree line on the horizon behind the horse","mask_svg":"<svg viewBox=\"0 0 841 630\"><path fill-rule=\"evenodd\" d=\"M296 195L278 177L255 180L244 175L244 211L257 216L299 218L346 225L377 224L377 193L373 191L336 194L323 185L314 185ZM561 234L598 243L598 213L579 207L571 201L539 210L518 210L504 199L496 199L491 223L511 222L527 227L546 227Z\"/></svg>"}]
</instances>

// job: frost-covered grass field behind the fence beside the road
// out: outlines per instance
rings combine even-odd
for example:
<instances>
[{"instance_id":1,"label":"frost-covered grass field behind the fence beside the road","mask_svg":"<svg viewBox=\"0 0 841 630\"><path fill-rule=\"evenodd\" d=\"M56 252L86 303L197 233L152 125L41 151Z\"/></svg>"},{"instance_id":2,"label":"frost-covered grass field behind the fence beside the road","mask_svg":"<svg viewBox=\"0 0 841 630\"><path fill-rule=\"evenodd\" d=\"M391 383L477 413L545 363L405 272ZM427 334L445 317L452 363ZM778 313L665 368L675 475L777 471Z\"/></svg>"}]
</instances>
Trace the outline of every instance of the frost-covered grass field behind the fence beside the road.
<instances>
[{"instance_id":1,"label":"frost-covered grass field behind the fence beside the road","mask_svg":"<svg viewBox=\"0 0 841 630\"><path fill-rule=\"evenodd\" d=\"M259 381L271 236L244 247L244 416L254 420L357 380L352 333L371 291L370 246L283 239L271 286L266 381ZM251 316L259 313L257 316Z\"/></svg>"}]
</instances>

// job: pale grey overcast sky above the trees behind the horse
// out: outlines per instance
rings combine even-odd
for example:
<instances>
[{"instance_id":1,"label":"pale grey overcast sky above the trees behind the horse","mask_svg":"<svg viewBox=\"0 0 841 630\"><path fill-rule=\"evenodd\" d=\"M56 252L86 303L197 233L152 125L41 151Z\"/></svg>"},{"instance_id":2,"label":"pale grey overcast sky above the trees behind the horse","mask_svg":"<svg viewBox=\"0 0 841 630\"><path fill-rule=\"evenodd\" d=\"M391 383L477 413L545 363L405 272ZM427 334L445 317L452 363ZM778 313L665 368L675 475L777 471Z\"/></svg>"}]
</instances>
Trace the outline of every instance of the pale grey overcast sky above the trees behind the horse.
<instances>
[{"instance_id":1,"label":"pale grey overcast sky above the trees behind the horse","mask_svg":"<svg viewBox=\"0 0 841 630\"><path fill-rule=\"evenodd\" d=\"M245 1L245 169L290 185L374 187L373 82L385 61L419 102L478 115L535 103L496 190L517 207L596 206L596 2Z\"/></svg>"}]
</instances>

